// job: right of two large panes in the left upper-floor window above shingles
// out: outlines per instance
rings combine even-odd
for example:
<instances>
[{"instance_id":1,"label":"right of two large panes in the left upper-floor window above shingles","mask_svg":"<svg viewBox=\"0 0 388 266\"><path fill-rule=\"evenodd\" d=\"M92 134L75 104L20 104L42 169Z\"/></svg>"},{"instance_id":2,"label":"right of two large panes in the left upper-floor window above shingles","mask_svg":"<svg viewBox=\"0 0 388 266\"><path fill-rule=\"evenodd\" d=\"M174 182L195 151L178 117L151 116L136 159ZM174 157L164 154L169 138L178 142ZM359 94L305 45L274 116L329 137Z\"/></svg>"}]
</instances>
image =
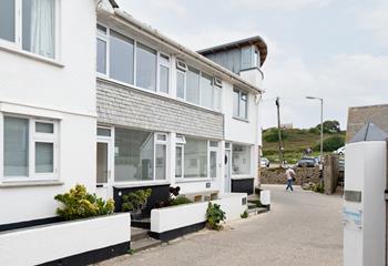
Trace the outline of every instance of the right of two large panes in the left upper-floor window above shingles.
<instances>
[{"instance_id":1,"label":"right of two large panes in the left upper-floor window above shingles","mask_svg":"<svg viewBox=\"0 0 388 266\"><path fill-rule=\"evenodd\" d=\"M136 85L156 91L156 51L141 43L136 48Z\"/></svg>"}]
</instances>

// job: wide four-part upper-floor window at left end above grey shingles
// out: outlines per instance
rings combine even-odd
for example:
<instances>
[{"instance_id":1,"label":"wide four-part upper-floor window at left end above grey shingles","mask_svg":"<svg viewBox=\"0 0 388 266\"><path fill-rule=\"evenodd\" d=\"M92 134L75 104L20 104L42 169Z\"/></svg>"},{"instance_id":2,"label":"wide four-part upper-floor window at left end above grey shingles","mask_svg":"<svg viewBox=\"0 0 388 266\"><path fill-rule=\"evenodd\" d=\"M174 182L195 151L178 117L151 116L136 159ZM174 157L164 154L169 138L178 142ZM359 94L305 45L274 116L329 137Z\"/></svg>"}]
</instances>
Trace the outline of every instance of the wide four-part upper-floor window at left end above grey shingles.
<instances>
[{"instance_id":1,"label":"wide four-part upper-floor window at left end above grey shingles","mask_svg":"<svg viewBox=\"0 0 388 266\"><path fill-rule=\"evenodd\" d=\"M170 92L170 57L98 24L96 71L149 91Z\"/></svg>"}]
</instances>

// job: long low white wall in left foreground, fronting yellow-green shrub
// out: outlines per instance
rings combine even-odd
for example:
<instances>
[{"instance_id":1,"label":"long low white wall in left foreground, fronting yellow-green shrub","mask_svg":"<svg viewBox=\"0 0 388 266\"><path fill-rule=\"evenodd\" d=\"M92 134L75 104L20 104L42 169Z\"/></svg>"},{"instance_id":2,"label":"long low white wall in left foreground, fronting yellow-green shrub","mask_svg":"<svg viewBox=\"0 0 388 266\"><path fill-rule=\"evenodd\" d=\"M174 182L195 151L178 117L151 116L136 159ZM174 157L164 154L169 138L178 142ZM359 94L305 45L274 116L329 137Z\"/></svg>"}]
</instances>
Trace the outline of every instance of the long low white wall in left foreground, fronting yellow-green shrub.
<instances>
[{"instance_id":1,"label":"long low white wall in left foreground, fronting yellow-green shrub","mask_svg":"<svg viewBox=\"0 0 388 266\"><path fill-rule=\"evenodd\" d=\"M131 217L116 214L0 233L0 265L37 265L131 241Z\"/></svg>"}]
</instances>

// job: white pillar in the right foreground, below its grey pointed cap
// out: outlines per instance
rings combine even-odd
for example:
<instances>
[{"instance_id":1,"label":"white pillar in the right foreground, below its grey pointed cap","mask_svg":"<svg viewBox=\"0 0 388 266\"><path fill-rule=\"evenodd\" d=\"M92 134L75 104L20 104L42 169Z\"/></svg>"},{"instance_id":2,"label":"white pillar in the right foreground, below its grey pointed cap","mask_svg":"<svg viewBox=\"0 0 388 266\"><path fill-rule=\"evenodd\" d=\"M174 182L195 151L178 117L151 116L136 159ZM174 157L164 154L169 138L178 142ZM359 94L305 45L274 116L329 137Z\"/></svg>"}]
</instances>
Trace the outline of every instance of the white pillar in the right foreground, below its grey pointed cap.
<instances>
[{"instance_id":1,"label":"white pillar in the right foreground, below its grey pointed cap","mask_svg":"<svg viewBox=\"0 0 388 266\"><path fill-rule=\"evenodd\" d=\"M351 218L344 225L344 265L385 265L386 142L346 145L345 191L361 192L361 202L344 202L344 211L360 213L361 225Z\"/></svg>"}]
</instances>

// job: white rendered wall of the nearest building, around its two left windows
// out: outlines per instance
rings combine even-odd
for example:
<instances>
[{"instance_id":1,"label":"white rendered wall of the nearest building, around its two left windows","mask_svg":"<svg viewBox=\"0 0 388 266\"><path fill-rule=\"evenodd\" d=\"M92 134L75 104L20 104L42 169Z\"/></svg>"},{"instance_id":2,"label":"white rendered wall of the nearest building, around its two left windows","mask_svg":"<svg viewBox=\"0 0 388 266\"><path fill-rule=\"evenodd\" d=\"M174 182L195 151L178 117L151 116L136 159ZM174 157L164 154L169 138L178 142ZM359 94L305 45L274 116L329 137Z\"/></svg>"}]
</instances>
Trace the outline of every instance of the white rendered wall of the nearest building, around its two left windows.
<instances>
[{"instance_id":1,"label":"white rendered wall of the nearest building, around its two left windows","mask_svg":"<svg viewBox=\"0 0 388 266\"><path fill-rule=\"evenodd\" d=\"M0 184L0 225L55 216L54 195L76 183L95 190L95 2L60 2L58 62L0 47L0 115L6 112L60 121L59 184Z\"/></svg>"}]
</instances>

